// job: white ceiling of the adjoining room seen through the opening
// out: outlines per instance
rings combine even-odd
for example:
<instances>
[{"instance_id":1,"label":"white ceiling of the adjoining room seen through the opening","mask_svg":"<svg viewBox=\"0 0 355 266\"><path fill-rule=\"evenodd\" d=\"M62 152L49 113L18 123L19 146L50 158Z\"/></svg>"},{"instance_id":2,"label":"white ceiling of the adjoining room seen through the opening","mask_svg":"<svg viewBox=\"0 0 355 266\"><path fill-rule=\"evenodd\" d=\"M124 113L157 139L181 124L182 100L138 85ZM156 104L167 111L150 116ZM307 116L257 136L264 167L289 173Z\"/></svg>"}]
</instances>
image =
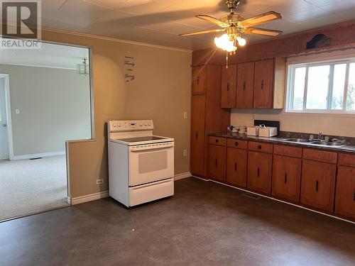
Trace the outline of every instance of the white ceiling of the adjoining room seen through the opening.
<instances>
[{"instance_id":1,"label":"white ceiling of the adjoining room seen through the opening","mask_svg":"<svg viewBox=\"0 0 355 266\"><path fill-rule=\"evenodd\" d=\"M75 70L77 64L81 64L84 57L89 57L88 48L53 43L41 43L41 47L38 50L0 50L0 62L4 65L27 65Z\"/></svg>"}]
</instances>

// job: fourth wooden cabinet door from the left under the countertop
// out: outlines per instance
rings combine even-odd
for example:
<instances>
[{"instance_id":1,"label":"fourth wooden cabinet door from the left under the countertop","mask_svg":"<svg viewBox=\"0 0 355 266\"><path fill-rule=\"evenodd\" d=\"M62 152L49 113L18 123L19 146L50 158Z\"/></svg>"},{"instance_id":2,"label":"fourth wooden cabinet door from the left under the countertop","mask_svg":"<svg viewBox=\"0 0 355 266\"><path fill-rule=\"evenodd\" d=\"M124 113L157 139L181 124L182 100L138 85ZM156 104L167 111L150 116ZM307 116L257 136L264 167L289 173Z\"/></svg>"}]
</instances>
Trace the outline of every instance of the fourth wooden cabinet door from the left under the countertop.
<instances>
[{"instance_id":1,"label":"fourth wooden cabinet door from the left under the countertop","mask_svg":"<svg viewBox=\"0 0 355 266\"><path fill-rule=\"evenodd\" d=\"M290 201L300 201L302 160L273 156L273 196Z\"/></svg>"}]
</instances>

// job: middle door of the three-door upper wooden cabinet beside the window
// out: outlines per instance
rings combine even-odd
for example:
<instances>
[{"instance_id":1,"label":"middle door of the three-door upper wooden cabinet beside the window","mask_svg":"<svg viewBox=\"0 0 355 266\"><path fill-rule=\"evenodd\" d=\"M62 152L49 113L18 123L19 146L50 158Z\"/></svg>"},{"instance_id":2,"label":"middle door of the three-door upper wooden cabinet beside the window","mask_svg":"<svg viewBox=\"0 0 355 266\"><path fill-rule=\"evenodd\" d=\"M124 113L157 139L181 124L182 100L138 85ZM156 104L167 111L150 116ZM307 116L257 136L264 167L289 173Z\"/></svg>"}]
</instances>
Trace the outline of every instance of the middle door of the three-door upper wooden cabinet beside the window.
<instances>
[{"instance_id":1,"label":"middle door of the three-door upper wooden cabinet beside the window","mask_svg":"<svg viewBox=\"0 0 355 266\"><path fill-rule=\"evenodd\" d=\"M254 62L238 65L236 108L253 108Z\"/></svg>"}]
</instances>

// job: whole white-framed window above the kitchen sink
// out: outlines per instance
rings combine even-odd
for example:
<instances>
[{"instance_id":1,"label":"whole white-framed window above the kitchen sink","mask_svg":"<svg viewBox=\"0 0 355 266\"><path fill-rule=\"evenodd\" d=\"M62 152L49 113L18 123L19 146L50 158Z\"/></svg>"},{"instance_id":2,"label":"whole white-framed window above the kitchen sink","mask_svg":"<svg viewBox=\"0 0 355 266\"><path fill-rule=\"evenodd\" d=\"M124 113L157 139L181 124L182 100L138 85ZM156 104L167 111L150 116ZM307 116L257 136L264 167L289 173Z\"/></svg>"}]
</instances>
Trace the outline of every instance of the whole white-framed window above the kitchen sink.
<instances>
[{"instance_id":1,"label":"whole white-framed window above the kitchen sink","mask_svg":"<svg viewBox=\"0 0 355 266\"><path fill-rule=\"evenodd\" d=\"M355 112L355 60L289 65L289 112Z\"/></svg>"}]
</instances>

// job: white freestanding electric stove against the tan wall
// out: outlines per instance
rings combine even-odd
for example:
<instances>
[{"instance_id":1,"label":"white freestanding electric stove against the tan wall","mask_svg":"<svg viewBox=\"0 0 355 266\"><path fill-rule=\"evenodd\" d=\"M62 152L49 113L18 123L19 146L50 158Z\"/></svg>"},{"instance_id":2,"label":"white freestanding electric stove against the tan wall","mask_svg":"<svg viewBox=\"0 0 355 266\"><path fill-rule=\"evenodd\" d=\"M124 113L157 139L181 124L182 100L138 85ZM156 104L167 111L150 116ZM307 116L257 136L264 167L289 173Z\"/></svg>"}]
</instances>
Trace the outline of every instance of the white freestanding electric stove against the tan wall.
<instances>
[{"instance_id":1,"label":"white freestanding electric stove against the tan wall","mask_svg":"<svg viewBox=\"0 0 355 266\"><path fill-rule=\"evenodd\" d=\"M152 120L109 121L109 195L130 207L174 194L174 139Z\"/></svg>"}]
</instances>

